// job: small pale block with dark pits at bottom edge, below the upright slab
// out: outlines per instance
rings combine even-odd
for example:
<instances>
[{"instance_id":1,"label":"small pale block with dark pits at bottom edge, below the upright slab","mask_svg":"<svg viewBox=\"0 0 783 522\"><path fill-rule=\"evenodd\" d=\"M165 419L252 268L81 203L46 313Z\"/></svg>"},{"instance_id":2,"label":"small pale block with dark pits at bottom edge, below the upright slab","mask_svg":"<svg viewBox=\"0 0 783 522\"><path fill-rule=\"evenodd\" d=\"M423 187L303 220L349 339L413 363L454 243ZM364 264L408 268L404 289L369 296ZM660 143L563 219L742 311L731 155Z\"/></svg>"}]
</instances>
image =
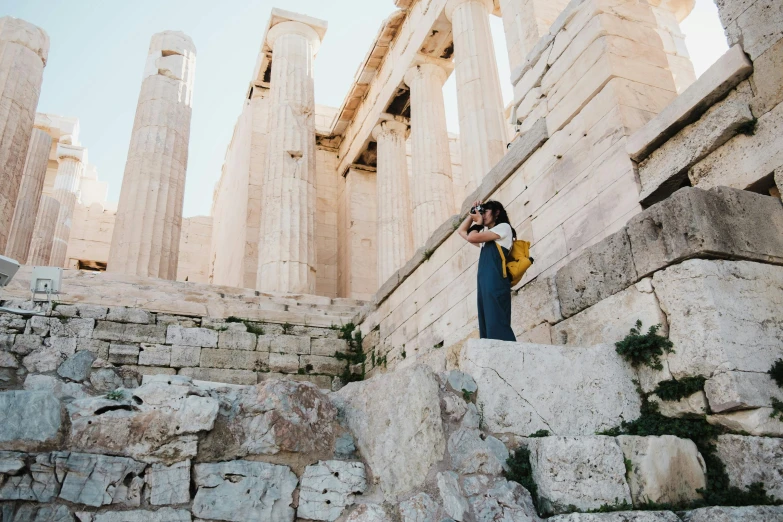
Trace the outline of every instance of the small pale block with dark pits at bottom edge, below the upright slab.
<instances>
[{"instance_id":1,"label":"small pale block with dark pits at bottom edge, below the upright slab","mask_svg":"<svg viewBox=\"0 0 783 522\"><path fill-rule=\"evenodd\" d=\"M361 462L319 461L307 466L299 490L297 516L312 520L337 520L343 510L364 493L367 477Z\"/></svg>"}]
</instances>

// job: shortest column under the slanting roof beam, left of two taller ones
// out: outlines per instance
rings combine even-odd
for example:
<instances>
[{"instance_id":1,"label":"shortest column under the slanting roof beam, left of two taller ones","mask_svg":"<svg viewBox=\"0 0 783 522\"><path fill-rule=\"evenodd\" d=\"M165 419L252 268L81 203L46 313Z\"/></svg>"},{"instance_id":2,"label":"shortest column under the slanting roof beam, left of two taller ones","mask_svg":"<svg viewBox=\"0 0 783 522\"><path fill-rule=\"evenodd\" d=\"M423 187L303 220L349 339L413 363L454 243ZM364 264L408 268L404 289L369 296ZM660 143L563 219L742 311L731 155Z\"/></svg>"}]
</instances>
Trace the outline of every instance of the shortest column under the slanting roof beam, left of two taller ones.
<instances>
[{"instance_id":1,"label":"shortest column under the slanting roof beam, left of two taller ones","mask_svg":"<svg viewBox=\"0 0 783 522\"><path fill-rule=\"evenodd\" d=\"M391 116L390 116L391 117ZM378 143L378 284L383 285L413 256L413 228L405 141L408 125L394 119L372 131Z\"/></svg>"}]
</instances>

